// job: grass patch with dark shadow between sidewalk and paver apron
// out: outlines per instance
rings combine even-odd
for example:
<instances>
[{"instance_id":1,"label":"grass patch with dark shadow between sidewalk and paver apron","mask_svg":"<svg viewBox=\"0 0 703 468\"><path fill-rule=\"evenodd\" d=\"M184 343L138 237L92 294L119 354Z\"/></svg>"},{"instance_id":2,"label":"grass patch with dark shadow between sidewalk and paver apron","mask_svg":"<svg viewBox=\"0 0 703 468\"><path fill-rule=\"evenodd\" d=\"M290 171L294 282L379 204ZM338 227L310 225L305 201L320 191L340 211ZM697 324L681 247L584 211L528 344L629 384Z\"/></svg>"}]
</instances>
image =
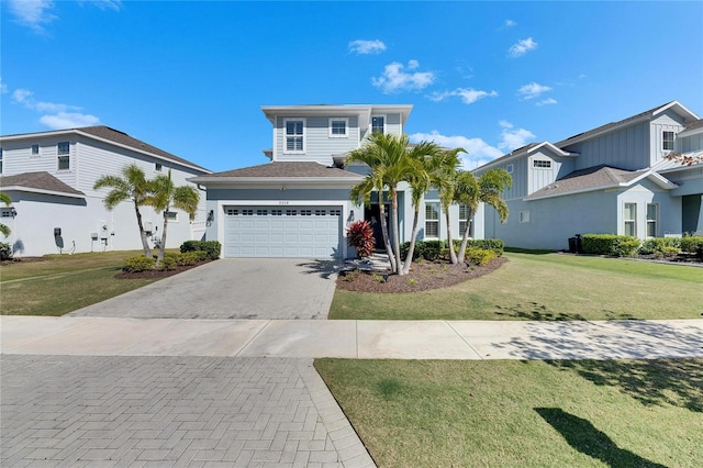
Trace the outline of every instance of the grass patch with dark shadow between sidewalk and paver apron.
<instances>
[{"instance_id":1,"label":"grass patch with dark shadow between sidewalk and paver apron","mask_svg":"<svg viewBox=\"0 0 703 468\"><path fill-rule=\"evenodd\" d=\"M698 467L703 359L315 367L379 467Z\"/></svg>"}]
</instances>

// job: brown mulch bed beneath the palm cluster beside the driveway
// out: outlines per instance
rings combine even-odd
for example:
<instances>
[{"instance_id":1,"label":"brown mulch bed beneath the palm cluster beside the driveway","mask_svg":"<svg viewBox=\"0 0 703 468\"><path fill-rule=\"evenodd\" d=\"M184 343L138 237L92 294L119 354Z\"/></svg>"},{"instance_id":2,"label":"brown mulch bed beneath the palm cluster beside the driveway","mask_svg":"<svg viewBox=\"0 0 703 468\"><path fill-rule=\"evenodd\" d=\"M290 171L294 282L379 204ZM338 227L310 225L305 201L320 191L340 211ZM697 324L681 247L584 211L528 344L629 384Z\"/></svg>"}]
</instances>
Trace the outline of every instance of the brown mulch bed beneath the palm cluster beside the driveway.
<instances>
[{"instance_id":1,"label":"brown mulch bed beneath the palm cluster beside the driveway","mask_svg":"<svg viewBox=\"0 0 703 468\"><path fill-rule=\"evenodd\" d=\"M446 260L414 263L408 275L390 271L343 271L337 288L357 292L415 292L446 288L495 271L507 258L500 257L488 265L451 265Z\"/></svg>"}]
</instances>

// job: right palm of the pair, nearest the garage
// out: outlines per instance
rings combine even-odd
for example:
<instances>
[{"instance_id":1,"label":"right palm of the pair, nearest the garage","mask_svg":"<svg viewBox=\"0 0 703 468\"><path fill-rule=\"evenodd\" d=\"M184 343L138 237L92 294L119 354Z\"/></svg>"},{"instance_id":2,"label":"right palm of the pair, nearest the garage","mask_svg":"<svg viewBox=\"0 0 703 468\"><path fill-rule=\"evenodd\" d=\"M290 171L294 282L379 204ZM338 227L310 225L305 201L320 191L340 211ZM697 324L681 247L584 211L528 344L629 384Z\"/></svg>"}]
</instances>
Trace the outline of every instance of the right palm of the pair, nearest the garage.
<instances>
[{"instance_id":1,"label":"right palm of the pair, nearest the garage","mask_svg":"<svg viewBox=\"0 0 703 468\"><path fill-rule=\"evenodd\" d=\"M164 229L161 230L161 247L158 250L156 258L156 266L158 267L164 260L164 253L166 252L166 234L168 229L168 212L171 207L188 213L188 218L192 222L196 219L198 212L198 203L200 202L200 193L194 187L182 186L176 187L171 180L171 171L168 170L168 176L157 176L156 179L149 182L150 194L146 197L144 204L148 204L156 211L164 212Z\"/></svg>"}]
</instances>

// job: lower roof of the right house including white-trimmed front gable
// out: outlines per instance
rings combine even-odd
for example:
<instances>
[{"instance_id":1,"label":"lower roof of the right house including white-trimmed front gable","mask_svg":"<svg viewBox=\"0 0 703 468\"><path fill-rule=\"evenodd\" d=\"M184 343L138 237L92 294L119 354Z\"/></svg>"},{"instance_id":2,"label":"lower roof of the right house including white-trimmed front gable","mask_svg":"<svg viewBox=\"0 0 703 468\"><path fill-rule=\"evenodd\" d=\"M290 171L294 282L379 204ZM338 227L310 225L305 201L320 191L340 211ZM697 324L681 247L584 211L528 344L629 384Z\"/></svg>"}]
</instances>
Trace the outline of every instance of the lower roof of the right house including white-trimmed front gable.
<instances>
[{"instance_id":1,"label":"lower roof of the right house including white-trimmed front gable","mask_svg":"<svg viewBox=\"0 0 703 468\"><path fill-rule=\"evenodd\" d=\"M639 180L649 179L663 189L674 189L678 186L652 170L624 170L606 165L593 166L587 169L574 170L571 174L549 183L534 193L525 197L525 200L538 200L543 198L559 197L610 188L629 187Z\"/></svg>"}]
</instances>

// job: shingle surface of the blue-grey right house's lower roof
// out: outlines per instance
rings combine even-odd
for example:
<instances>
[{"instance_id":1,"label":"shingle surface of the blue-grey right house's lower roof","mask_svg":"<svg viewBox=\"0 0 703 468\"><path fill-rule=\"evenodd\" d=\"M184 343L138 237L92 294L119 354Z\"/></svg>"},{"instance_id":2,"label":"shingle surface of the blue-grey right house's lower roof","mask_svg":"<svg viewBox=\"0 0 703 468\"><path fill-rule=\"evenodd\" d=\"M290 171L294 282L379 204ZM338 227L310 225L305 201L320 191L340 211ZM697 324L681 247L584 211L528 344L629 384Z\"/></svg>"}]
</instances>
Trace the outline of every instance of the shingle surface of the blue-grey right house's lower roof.
<instances>
[{"instance_id":1,"label":"shingle surface of the blue-grey right house's lower roof","mask_svg":"<svg viewBox=\"0 0 703 468\"><path fill-rule=\"evenodd\" d=\"M574 170L573 172L568 174L547 187L531 193L526 199L531 200L547 196L553 197L568 192L594 189L596 187L616 186L629 182L645 172L647 172L647 170L624 170L605 165L589 167L587 169Z\"/></svg>"}]
</instances>

